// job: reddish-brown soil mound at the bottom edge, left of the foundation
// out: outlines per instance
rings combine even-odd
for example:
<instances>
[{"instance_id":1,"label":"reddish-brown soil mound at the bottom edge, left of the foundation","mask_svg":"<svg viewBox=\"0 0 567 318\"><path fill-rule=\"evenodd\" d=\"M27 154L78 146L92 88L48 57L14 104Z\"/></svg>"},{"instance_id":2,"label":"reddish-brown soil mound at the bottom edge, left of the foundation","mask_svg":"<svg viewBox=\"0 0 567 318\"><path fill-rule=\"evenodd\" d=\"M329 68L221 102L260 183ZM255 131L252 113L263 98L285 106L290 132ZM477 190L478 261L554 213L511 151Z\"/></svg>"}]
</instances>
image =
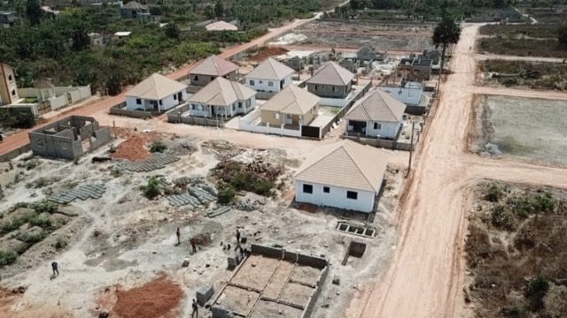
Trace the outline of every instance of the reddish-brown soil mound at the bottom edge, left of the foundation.
<instances>
[{"instance_id":1,"label":"reddish-brown soil mound at the bottom edge, left of the foundation","mask_svg":"<svg viewBox=\"0 0 567 318\"><path fill-rule=\"evenodd\" d=\"M159 318L173 316L183 291L166 276L128 291L116 291L113 312L120 318Z\"/></svg>"}]
</instances>

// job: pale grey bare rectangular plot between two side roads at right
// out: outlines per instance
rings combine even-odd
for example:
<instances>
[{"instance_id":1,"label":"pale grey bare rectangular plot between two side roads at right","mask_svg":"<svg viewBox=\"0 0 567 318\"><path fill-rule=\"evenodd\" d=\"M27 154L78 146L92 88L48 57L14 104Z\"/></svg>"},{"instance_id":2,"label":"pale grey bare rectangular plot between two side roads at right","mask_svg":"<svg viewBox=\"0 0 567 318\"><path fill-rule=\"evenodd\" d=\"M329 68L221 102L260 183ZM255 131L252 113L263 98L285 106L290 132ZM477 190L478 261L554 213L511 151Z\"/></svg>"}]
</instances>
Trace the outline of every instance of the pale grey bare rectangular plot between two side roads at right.
<instances>
[{"instance_id":1,"label":"pale grey bare rectangular plot between two side roads at right","mask_svg":"<svg viewBox=\"0 0 567 318\"><path fill-rule=\"evenodd\" d=\"M567 102L509 96L478 99L474 148L481 155L567 165Z\"/></svg>"}]
</instances>

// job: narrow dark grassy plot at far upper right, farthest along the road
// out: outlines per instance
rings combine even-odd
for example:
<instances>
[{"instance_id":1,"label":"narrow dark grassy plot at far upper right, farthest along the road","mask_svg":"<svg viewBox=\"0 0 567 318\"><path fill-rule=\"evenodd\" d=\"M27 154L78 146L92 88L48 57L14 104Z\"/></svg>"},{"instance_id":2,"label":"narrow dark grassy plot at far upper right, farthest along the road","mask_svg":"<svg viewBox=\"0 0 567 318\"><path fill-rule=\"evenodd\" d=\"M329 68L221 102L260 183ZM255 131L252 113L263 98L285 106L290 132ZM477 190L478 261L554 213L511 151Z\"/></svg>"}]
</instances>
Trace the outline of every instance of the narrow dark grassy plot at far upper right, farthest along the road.
<instances>
[{"instance_id":1,"label":"narrow dark grassy plot at far upper right, farthest along the road","mask_svg":"<svg viewBox=\"0 0 567 318\"><path fill-rule=\"evenodd\" d=\"M486 25L478 30L483 35L509 35L509 36L529 36L532 38L557 38L556 24L535 24L535 25Z\"/></svg>"}]
</instances>

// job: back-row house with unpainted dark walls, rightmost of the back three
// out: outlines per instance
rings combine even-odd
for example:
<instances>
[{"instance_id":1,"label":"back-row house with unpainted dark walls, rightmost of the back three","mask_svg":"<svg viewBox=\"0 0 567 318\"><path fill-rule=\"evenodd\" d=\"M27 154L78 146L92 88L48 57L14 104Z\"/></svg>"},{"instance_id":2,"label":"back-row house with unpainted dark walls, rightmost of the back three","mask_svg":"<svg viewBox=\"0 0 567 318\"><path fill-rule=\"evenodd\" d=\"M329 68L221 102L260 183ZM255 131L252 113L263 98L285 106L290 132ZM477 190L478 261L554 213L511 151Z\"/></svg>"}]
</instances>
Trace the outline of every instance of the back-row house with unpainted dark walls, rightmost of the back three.
<instances>
[{"instance_id":1,"label":"back-row house with unpainted dark walls, rightmost of the back three","mask_svg":"<svg viewBox=\"0 0 567 318\"><path fill-rule=\"evenodd\" d=\"M353 88L354 74L344 67L329 62L322 65L311 79L307 79L307 90L323 98L346 98Z\"/></svg>"}]
</instances>

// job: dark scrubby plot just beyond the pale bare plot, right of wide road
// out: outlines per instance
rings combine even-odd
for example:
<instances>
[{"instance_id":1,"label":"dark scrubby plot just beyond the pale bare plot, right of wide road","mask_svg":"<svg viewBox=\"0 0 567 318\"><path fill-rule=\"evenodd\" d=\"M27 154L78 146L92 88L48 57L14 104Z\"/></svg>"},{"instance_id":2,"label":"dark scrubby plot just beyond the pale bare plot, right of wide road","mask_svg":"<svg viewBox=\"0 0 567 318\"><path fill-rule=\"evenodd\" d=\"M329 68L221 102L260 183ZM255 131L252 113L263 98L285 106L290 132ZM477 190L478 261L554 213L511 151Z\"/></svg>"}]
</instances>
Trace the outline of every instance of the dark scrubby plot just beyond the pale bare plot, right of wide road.
<instances>
[{"instance_id":1,"label":"dark scrubby plot just beyond the pale bare plot, right of wide road","mask_svg":"<svg viewBox=\"0 0 567 318\"><path fill-rule=\"evenodd\" d=\"M567 64L486 60L480 67L487 86L567 90Z\"/></svg>"}]
</instances>

